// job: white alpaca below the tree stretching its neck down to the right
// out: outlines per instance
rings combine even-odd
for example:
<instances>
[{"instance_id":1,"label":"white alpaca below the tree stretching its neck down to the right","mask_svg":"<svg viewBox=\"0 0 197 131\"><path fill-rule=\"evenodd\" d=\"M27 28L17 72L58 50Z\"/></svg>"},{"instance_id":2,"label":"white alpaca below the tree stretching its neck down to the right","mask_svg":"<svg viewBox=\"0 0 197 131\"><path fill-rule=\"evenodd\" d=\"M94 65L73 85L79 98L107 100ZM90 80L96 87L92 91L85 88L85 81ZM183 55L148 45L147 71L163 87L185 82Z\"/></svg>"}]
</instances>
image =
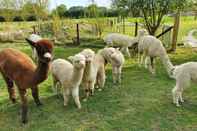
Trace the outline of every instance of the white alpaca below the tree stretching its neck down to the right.
<instances>
[{"instance_id":1,"label":"white alpaca below the tree stretching its neck down to the right","mask_svg":"<svg viewBox=\"0 0 197 131\"><path fill-rule=\"evenodd\" d=\"M139 38L138 57L138 63L140 66L145 64L145 67L148 67L152 74L155 73L154 59L159 57L171 77L174 66L171 63L162 42L156 37L146 35ZM150 62L148 62L149 59Z\"/></svg>"}]
</instances>

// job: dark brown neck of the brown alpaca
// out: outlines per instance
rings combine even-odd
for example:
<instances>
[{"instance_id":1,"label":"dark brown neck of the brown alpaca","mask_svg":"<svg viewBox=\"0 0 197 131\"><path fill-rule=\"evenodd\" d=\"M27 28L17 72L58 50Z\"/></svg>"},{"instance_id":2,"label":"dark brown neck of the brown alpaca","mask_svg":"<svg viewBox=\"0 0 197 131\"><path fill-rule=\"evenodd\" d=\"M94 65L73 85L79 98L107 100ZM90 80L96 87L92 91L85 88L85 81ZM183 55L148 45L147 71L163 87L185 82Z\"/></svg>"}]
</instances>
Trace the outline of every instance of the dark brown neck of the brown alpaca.
<instances>
[{"instance_id":1,"label":"dark brown neck of the brown alpaca","mask_svg":"<svg viewBox=\"0 0 197 131\"><path fill-rule=\"evenodd\" d=\"M47 78L48 70L49 70L49 63L45 63L39 60L38 66L35 70L33 83L39 84L43 82Z\"/></svg>"}]
</instances>

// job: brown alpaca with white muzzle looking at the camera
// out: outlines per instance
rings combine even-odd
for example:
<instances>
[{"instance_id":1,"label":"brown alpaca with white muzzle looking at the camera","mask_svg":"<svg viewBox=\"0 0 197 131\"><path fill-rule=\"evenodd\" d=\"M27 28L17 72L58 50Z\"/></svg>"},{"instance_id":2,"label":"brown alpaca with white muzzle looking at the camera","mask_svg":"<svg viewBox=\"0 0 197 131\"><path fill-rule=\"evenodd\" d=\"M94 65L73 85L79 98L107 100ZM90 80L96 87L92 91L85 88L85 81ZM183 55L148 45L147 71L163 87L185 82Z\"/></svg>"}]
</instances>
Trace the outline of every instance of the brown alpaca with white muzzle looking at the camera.
<instances>
[{"instance_id":1,"label":"brown alpaca with white muzzle looking at the camera","mask_svg":"<svg viewBox=\"0 0 197 131\"><path fill-rule=\"evenodd\" d=\"M38 66L24 53L7 48L0 52L0 72L7 83L9 97L16 102L14 83L18 87L22 101L22 122L27 122L27 88L31 88L32 96L37 106L42 105L39 100L38 84L43 82L48 75L49 62L51 61L52 43L48 40L33 42L26 39L36 48Z\"/></svg>"}]
</instances>

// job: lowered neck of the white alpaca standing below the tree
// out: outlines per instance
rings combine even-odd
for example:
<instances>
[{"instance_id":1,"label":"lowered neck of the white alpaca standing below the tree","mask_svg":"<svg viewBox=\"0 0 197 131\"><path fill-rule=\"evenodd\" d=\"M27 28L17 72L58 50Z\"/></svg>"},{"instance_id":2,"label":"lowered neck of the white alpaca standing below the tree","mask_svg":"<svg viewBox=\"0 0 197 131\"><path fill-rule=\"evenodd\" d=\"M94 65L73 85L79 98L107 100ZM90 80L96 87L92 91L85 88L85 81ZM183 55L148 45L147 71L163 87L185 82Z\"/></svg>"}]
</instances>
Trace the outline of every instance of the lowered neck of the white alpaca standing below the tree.
<instances>
[{"instance_id":1,"label":"lowered neck of the white alpaca standing below the tree","mask_svg":"<svg viewBox=\"0 0 197 131\"><path fill-rule=\"evenodd\" d=\"M171 77L174 66L173 66L172 62L170 61L168 55L167 54L161 55L160 58L161 58L161 61L164 65L164 67L166 68L166 70L168 72L168 75Z\"/></svg>"}]
</instances>

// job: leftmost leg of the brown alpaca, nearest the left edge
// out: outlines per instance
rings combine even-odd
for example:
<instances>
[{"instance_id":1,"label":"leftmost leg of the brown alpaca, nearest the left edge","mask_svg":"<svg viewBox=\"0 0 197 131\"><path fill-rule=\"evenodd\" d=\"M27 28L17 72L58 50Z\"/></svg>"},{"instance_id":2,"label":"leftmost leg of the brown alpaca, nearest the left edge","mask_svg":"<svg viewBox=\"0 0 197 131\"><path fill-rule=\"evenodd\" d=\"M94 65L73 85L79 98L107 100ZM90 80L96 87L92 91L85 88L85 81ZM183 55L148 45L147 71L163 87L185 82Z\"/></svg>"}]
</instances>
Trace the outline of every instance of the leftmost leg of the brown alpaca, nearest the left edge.
<instances>
[{"instance_id":1,"label":"leftmost leg of the brown alpaca, nearest the left edge","mask_svg":"<svg viewBox=\"0 0 197 131\"><path fill-rule=\"evenodd\" d=\"M9 79L8 77L5 77L4 75L3 75L3 78L7 84L9 98L13 103L15 103L16 102L16 92L14 89L14 82L11 79Z\"/></svg>"}]
</instances>

